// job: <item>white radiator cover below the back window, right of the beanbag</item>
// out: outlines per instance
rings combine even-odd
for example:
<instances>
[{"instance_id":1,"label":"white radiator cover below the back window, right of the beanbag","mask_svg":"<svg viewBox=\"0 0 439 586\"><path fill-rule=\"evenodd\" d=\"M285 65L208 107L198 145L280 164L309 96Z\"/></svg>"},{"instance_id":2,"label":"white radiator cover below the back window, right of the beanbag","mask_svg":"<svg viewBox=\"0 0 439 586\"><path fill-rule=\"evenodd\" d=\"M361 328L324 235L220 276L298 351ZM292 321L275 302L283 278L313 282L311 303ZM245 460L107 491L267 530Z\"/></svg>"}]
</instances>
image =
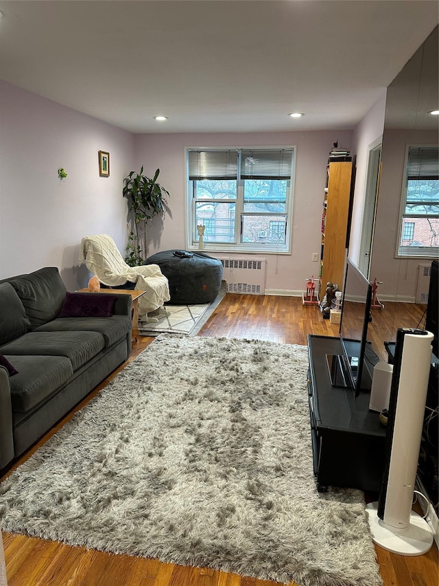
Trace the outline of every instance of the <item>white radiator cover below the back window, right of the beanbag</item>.
<instances>
[{"instance_id":1,"label":"white radiator cover below the back window, right of the beanbag","mask_svg":"<svg viewBox=\"0 0 439 586\"><path fill-rule=\"evenodd\" d=\"M228 293L265 295L265 258L216 258L222 262L222 278L227 282Z\"/></svg>"}]
</instances>

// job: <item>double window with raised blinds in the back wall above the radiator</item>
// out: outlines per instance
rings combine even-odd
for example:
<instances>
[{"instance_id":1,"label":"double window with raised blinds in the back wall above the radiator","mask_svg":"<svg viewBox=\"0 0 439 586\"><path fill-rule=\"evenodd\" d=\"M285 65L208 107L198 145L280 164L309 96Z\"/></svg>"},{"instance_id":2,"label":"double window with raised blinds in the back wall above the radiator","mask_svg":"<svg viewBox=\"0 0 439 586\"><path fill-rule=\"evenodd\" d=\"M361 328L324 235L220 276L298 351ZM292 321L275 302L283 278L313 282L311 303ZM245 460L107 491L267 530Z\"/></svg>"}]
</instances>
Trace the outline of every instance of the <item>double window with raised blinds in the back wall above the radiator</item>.
<instances>
[{"instance_id":1,"label":"double window with raised blinds in the back wall above the radiator","mask_svg":"<svg viewBox=\"0 0 439 586\"><path fill-rule=\"evenodd\" d=\"M289 251L294 148L187 150L188 248Z\"/></svg>"}]
</instances>

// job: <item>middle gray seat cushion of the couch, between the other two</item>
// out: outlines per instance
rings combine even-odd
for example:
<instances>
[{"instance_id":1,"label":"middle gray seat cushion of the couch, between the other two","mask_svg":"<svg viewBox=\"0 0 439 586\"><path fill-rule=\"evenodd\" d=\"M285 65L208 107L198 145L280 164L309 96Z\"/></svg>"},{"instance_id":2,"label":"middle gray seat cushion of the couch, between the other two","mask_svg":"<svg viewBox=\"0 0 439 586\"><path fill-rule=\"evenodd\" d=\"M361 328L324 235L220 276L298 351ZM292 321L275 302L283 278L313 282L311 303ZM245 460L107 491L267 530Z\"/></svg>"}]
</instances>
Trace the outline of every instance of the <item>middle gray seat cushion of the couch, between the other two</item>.
<instances>
[{"instance_id":1,"label":"middle gray seat cushion of the couch, between the other two","mask_svg":"<svg viewBox=\"0 0 439 586\"><path fill-rule=\"evenodd\" d=\"M104 336L98 332L29 332L1 346L0 352L4 356L65 356L77 370L103 349Z\"/></svg>"}]
</instances>

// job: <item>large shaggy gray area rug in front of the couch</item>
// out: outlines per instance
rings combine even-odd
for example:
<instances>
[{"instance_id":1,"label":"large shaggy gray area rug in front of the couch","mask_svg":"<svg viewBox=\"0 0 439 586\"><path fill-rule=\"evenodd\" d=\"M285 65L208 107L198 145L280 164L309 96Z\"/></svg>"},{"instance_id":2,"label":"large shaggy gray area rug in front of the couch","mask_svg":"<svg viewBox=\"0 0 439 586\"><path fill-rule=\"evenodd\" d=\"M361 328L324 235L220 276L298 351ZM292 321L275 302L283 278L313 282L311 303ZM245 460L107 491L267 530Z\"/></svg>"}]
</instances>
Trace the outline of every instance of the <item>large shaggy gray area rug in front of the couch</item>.
<instances>
[{"instance_id":1,"label":"large shaggy gray area rug in front of the couch","mask_svg":"<svg viewBox=\"0 0 439 586\"><path fill-rule=\"evenodd\" d=\"M0 485L4 531L296 581L382 584L360 491L313 477L307 348L164 335Z\"/></svg>"}]
</instances>

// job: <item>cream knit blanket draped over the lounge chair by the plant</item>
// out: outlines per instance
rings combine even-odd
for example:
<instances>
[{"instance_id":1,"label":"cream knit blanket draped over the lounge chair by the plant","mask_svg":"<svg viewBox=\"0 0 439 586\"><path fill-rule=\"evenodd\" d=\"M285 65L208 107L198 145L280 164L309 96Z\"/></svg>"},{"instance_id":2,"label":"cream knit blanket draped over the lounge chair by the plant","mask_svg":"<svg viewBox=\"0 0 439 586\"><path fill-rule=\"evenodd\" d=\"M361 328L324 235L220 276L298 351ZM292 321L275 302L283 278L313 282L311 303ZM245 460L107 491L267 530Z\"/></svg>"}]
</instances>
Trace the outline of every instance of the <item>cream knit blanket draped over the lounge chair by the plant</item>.
<instances>
[{"instance_id":1,"label":"cream knit blanket draped over the lounge chair by the plant","mask_svg":"<svg viewBox=\"0 0 439 586\"><path fill-rule=\"evenodd\" d=\"M158 309L171 298L167 278L158 264L130 267L108 234L82 238L78 262L85 263L87 269L109 287L131 281L136 289L146 291L139 297L139 315Z\"/></svg>"}]
</instances>

